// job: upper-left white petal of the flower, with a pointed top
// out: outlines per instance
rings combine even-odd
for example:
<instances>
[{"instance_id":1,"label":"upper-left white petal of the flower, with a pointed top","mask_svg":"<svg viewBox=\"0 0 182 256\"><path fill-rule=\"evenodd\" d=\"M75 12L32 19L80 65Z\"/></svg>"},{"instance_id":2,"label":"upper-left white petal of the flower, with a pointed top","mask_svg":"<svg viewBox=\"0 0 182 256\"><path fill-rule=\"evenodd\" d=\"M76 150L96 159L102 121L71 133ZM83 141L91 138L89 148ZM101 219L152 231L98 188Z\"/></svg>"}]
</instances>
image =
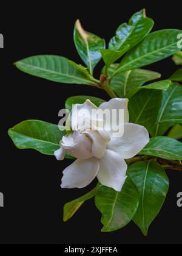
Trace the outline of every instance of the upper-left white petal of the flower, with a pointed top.
<instances>
[{"instance_id":1,"label":"upper-left white petal of the flower, with a pointed top","mask_svg":"<svg viewBox=\"0 0 182 256\"><path fill-rule=\"evenodd\" d=\"M94 105L89 99L87 99L84 104L76 104L72 109L71 115L71 127L72 130L78 130L79 126L82 126L81 123L87 123L87 126L90 126L92 120L92 110L97 110L98 108ZM84 129L89 129L84 125Z\"/></svg>"}]
</instances>

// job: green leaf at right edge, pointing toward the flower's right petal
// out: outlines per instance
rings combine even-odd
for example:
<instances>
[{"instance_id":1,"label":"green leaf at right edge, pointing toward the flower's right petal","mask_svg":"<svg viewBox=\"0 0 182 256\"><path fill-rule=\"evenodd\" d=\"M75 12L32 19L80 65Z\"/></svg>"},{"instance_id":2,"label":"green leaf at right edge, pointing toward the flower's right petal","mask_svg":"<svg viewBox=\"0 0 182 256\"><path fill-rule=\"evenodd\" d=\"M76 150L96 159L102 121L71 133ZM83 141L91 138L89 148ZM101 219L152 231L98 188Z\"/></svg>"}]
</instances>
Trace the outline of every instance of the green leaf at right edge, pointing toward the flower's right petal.
<instances>
[{"instance_id":1,"label":"green leaf at right edge, pointing toward the flower's right petal","mask_svg":"<svg viewBox=\"0 0 182 256\"><path fill-rule=\"evenodd\" d=\"M140 155L152 155L167 160L182 160L182 143L169 137L151 138Z\"/></svg>"}]
</instances>

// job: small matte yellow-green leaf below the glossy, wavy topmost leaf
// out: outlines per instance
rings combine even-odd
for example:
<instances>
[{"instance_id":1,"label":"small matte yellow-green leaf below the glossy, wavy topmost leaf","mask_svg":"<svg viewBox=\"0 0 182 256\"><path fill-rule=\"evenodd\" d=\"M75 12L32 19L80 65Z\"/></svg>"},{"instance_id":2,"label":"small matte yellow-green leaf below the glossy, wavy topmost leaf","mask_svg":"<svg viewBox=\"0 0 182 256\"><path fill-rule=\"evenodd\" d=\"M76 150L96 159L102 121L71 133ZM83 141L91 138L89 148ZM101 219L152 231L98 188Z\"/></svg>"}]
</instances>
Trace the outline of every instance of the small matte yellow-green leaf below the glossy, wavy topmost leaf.
<instances>
[{"instance_id":1,"label":"small matte yellow-green leaf below the glossy, wavy topmost leaf","mask_svg":"<svg viewBox=\"0 0 182 256\"><path fill-rule=\"evenodd\" d=\"M120 51L113 51L109 49L101 49L101 54L104 62L106 63L106 73L110 65L120 59L129 49L129 45L124 46Z\"/></svg>"}]
</instances>

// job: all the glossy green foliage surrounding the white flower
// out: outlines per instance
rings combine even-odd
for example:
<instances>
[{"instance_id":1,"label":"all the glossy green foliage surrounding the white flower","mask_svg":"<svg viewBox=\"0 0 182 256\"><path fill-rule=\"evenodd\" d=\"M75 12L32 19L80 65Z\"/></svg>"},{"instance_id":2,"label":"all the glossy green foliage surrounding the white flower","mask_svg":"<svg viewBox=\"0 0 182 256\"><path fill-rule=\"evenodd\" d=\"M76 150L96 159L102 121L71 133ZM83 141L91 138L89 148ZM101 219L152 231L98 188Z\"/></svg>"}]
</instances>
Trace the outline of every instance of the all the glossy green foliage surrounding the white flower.
<instances>
[{"instance_id":1,"label":"all the glossy green foliage surrounding the white flower","mask_svg":"<svg viewBox=\"0 0 182 256\"><path fill-rule=\"evenodd\" d=\"M21 71L33 76L65 84L93 85L106 90L113 98L130 99L130 123L146 127L151 135L150 143L139 156L128 161L128 178L120 193L98 184L90 193L65 205L64 221L95 197L96 207L102 213L103 232L121 229L133 220L147 235L169 190L165 169L174 165L181 168L182 143L178 140L182 137L182 68L168 80L157 80L161 74L142 67L170 55L174 55L177 65L182 65L177 39L182 30L150 33L152 27L153 20L141 10L129 23L118 27L106 49L102 38L86 32L76 21L75 46L86 67L55 55L38 55L15 63ZM105 66L98 80L93 77L93 70L102 58ZM151 84L152 80L155 82ZM71 110L73 104L86 99L97 106L104 102L92 96L75 96L67 99L66 108ZM164 136L169 128L169 135ZM28 120L10 129L8 134L19 149L53 155L65 132L55 124Z\"/></svg>"}]
</instances>

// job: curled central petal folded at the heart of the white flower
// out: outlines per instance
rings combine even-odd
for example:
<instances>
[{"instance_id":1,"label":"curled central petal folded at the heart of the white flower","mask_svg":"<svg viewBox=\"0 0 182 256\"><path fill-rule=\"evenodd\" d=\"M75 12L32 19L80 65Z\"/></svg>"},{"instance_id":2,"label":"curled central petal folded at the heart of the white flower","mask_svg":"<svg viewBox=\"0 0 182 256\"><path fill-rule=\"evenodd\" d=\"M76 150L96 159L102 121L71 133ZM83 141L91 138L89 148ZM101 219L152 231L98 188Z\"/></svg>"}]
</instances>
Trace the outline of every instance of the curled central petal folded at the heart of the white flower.
<instances>
[{"instance_id":1,"label":"curled central petal folded at the heart of the white flower","mask_svg":"<svg viewBox=\"0 0 182 256\"><path fill-rule=\"evenodd\" d=\"M97 131L86 130L84 134L89 136L92 140L93 157L102 158L106 151L107 140L104 140L104 138L101 137L101 135Z\"/></svg>"}]
</instances>

